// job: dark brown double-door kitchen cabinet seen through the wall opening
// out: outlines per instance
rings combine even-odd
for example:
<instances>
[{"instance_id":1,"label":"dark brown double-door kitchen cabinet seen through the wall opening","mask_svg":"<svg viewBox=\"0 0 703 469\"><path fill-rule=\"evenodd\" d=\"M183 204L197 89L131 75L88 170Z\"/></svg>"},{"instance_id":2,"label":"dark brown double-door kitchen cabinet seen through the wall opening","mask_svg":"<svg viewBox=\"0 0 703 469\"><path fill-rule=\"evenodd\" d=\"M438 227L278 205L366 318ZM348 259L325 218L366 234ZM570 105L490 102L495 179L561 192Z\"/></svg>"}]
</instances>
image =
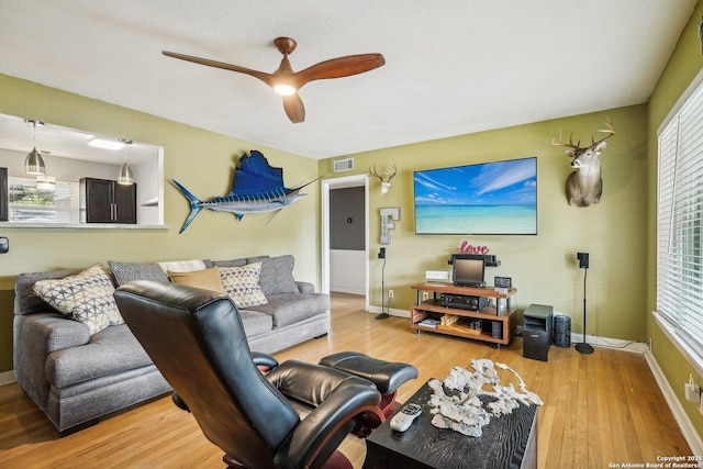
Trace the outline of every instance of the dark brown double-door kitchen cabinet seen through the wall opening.
<instances>
[{"instance_id":1,"label":"dark brown double-door kitchen cabinet seen through the wall opening","mask_svg":"<svg viewBox=\"0 0 703 469\"><path fill-rule=\"evenodd\" d=\"M136 183L82 178L80 214L81 222L86 223L136 224Z\"/></svg>"}]
</instances>

